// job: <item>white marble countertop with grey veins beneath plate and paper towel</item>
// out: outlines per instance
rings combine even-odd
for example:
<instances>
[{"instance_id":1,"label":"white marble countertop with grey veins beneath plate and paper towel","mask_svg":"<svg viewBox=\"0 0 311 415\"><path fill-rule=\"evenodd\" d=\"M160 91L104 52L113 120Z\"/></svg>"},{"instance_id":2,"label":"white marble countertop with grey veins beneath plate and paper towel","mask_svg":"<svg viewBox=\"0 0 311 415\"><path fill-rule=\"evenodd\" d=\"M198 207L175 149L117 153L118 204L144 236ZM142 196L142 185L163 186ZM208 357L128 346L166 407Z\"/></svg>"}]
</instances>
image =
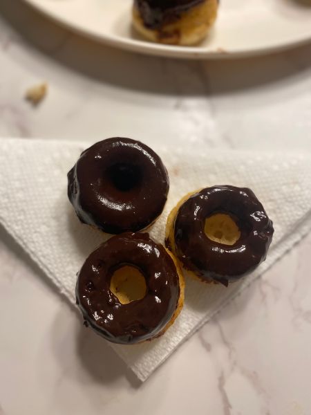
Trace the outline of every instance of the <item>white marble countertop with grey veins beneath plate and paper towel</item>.
<instances>
[{"instance_id":1,"label":"white marble countertop with grey veins beneath plate and paper towel","mask_svg":"<svg viewBox=\"0 0 311 415\"><path fill-rule=\"evenodd\" d=\"M0 136L311 151L311 45L223 62L131 55L0 2ZM48 82L38 107L26 89ZM311 237L140 385L0 230L0 414L311 413Z\"/></svg>"}]
</instances>

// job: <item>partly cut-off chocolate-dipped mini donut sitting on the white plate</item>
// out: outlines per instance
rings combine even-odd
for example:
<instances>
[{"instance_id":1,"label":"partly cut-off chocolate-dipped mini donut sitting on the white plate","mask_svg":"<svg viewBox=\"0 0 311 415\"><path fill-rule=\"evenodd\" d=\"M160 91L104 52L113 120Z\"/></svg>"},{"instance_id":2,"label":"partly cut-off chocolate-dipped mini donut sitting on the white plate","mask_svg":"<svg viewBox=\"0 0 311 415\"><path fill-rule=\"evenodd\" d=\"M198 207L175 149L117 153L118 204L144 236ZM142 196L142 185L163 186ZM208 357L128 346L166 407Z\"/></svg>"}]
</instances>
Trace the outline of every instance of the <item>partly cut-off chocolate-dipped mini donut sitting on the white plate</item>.
<instances>
[{"instance_id":1,"label":"partly cut-off chocolate-dipped mini donut sitting on the white plate","mask_svg":"<svg viewBox=\"0 0 311 415\"><path fill-rule=\"evenodd\" d=\"M133 26L152 42L189 46L205 38L217 11L218 0L135 0Z\"/></svg>"}]
</instances>

